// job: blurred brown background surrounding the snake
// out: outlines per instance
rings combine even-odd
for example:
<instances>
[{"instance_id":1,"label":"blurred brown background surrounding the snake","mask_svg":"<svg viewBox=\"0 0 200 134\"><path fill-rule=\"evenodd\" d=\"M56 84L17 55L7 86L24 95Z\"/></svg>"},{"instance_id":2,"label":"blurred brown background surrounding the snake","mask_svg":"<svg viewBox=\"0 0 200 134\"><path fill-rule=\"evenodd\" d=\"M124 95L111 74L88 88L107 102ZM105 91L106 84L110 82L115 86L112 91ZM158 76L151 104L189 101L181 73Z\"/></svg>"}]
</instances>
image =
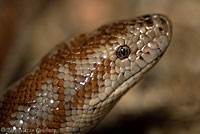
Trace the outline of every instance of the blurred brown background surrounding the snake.
<instances>
[{"instance_id":1,"label":"blurred brown background surrounding the snake","mask_svg":"<svg viewBox=\"0 0 200 134\"><path fill-rule=\"evenodd\" d=\"M66 37L148 13L171 19L171 46L91 133L199 134L199 0L0 0L0 91Z\"/></svg>"}]
</instances>

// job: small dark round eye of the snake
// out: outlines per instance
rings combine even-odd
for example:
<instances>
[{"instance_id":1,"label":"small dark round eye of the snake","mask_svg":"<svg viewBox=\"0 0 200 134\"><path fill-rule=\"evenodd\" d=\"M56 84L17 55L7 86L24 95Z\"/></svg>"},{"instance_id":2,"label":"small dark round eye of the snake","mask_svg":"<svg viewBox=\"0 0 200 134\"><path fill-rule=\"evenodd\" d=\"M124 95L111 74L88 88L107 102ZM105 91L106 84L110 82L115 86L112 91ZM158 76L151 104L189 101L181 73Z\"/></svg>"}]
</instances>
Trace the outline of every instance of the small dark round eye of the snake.
<instances>
[{"instance_id":1,"label":"small dark round eye of the snake","mask_svg":"<svg viewBox=\"0 0 200 134\"><path fill-rule=\"evenodd\" d=\"M121 60L122 59L125 59L129 56L130 54L130 49L128 46L124 45L124 46L120 46L118 49L117 49L117 57L120 58Z\"/></svg>"}]
</instances>

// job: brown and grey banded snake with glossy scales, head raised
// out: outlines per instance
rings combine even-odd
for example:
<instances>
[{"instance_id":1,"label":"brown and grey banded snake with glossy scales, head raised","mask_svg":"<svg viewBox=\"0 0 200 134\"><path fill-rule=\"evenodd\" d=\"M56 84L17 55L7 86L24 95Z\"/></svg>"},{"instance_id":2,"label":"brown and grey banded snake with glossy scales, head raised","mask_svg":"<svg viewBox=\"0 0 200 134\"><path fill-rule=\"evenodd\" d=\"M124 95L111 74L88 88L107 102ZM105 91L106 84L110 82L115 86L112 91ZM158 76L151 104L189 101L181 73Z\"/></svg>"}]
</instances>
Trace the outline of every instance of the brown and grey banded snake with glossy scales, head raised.
<instances>
[{"instance_id":1,"label":"brown and grey banded snake with glossy scales, head raised","mask_svg":"<svg viewBox=\"0 0 200 134\"><path fill-rule=\"evenodd\" d=\"M147 14L64 40L1 93L0 133L90 132L160 60L171 38L170 20Z\"/></svg>"}]
</instances>

